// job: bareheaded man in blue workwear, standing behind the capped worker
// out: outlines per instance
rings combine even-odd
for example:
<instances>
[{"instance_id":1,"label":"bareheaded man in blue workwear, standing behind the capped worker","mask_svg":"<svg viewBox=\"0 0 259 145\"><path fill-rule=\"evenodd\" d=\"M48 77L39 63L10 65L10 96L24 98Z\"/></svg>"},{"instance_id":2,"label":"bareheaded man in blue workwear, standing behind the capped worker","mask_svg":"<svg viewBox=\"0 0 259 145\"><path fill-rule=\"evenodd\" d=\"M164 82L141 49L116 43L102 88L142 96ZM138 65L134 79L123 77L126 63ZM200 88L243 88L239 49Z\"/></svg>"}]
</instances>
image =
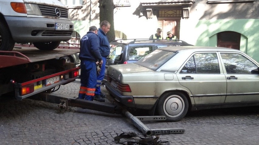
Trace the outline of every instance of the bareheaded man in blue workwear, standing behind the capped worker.
<instances>
[{"instance_id":1,"label":"bareheaded man in blue workwear, standing behind the capped worker","mask_svg":"<svg viewBox=\"0 0 259 145\"><path fill-rule=\"evenodd\" d=\"M102 55L102 67L100 74L97 76L97 85L95 89L95 97L94 100L104 102L104 97L105 95L101 92L101 83L104 78L104 72L105 72L105 63L106 63L106 58L110 54L110 43L109 40L106 36L107 32L110 31L110 26L111 24L108 21L102 21L100 28L98 29L98 38L100 40L100 53Z\"/></svg>"}]
</instances>

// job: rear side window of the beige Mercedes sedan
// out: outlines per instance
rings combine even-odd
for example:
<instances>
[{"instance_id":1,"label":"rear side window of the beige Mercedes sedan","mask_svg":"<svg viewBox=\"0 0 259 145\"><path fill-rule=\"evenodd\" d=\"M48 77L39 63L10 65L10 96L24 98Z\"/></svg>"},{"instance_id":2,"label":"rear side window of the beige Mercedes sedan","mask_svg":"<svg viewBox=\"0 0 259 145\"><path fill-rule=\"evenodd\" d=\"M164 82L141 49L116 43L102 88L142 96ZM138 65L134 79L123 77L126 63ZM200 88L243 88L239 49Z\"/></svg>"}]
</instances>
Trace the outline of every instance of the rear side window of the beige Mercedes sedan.
<instances>
[{"instance_id":1,"label":"rear side window of the beige Mercedes sedan","mask_svg":"<svg viewBox=\"0 0 259 145\"><path fill-rule=\"evenodd\" d=\"M194 54L182 68L180 73L220 74L217 54Z\"/></svg>"}]
</instances>

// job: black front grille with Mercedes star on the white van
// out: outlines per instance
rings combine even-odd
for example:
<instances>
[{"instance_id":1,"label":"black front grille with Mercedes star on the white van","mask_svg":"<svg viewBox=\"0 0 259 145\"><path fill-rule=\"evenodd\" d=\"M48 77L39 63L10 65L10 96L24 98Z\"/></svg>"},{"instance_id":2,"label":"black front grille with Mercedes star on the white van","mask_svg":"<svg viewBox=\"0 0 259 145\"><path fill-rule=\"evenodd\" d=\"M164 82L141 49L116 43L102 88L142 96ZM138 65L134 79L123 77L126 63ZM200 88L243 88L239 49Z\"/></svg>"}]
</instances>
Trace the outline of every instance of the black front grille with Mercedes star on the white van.
<instances>
[{"instance_id":1,"label":"black front grille with Mercedes star on the white van","mask_svg":"<svg viewBox=\"0 0 259 145\"><path fill-rule=\"evenodd\" d=\"M57 17L55 9L57 7L48 6L48 5L38 5L40 12L43 16ZM58 8L60 10L60 18L68 18L68 9Z\"/></svg>"}]
</instances>

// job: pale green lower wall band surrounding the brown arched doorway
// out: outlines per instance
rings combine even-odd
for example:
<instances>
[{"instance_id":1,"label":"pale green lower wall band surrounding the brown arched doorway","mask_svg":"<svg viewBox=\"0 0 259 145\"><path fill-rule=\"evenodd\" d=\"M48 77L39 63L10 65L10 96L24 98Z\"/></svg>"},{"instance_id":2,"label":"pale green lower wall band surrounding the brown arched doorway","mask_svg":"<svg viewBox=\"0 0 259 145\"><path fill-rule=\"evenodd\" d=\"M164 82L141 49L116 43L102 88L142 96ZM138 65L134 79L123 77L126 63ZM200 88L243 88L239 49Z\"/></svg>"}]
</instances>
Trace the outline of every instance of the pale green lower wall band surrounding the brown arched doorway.
<instances>
[{"instance_id":1,"label":"pale green lower wall band surrounding the brown arched doorway","mask_svg":"<svg viewBox=\"0 0 259 145\"><path fill-rule=\"evenodd\" d=\"M259 62L259 19L181 20L180 39L197 46L216 46L216 34L222 31L240 33L240 50Z\"/></svg>"}]
</instances>

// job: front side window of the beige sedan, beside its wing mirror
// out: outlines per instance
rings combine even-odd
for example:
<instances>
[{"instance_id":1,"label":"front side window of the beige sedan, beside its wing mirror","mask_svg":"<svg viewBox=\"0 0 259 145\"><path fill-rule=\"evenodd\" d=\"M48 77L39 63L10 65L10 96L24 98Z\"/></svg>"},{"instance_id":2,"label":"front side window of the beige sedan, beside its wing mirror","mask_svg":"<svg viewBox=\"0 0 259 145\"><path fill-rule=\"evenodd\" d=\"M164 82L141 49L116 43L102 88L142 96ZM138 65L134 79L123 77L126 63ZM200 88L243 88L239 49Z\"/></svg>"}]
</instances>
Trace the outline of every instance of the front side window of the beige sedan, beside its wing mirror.
<instances>
[{"instance_id":1,"label":"front side window of the beige sedan, beside its wing mirror","mask_svg":"<svg viewBox=\"0 0 259 145\"><path fill-rule=\"evenodd\" d=\"M257 65L241 54L220 53L227 74L253 74Z\"/></svg>"}]
</instances>

